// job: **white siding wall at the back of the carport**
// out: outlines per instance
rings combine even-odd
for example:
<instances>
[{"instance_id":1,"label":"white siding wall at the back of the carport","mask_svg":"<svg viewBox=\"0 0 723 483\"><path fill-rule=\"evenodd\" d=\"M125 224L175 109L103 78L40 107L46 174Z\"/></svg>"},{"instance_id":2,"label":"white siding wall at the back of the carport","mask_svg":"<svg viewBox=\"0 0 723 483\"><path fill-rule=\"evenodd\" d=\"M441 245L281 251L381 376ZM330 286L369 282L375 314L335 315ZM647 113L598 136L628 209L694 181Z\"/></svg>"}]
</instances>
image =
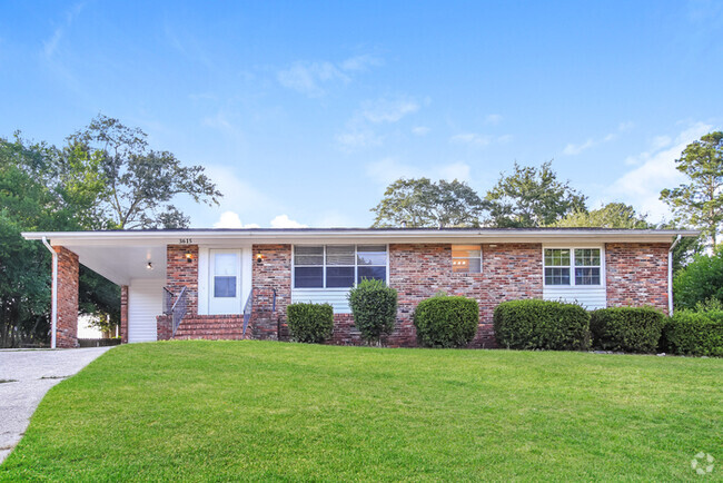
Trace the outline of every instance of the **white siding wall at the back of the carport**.
<instances>
[{"instance_id":1,"label":"white siding wall at the back of the carport","mask_svg":"<svg viewBox=\"0 0 723 483\"><path fill-rule=\"evenodd\" d=\"M128 286L128 342L157 339L156 316L161 314L164 279L133 279Z\"/></svg>"}]
</instances>

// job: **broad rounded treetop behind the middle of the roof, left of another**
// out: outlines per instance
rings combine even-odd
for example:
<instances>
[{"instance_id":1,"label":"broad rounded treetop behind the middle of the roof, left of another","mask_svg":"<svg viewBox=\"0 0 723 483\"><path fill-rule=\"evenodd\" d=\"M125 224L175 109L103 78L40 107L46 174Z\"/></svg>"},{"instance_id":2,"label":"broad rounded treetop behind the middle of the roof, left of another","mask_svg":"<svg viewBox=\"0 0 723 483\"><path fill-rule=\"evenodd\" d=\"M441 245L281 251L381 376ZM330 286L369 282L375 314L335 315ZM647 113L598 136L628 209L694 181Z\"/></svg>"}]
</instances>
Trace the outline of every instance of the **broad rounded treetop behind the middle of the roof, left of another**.
<instances>
[{"instance_id":1,"label":"broad rounded treetop behind the middle of the roof, left of another","mask_svg":"<svg viewBox=\"0 0 723 483\"><path fill-rule=\"evenodd\" d=\"M375 227L476 227L484 201L466 183L428 178L397 179L372 208Z\"/></svg>"}]
</instances>

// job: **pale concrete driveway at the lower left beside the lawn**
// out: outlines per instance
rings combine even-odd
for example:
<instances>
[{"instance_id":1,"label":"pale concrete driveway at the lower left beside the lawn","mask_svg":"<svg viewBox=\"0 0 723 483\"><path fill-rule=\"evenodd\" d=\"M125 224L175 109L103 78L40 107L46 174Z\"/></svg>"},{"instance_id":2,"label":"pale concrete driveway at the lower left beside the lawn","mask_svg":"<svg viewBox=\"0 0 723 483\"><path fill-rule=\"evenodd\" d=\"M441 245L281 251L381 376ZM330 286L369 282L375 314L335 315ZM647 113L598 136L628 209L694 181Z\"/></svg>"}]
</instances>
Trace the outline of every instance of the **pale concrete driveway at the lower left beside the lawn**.
<instances>
[{"instance_id":1,"label":"pale concrete driveway at the lower left beside the lawn","mask_svg":"<svg viewBox=\"0 0 723 483\"><path fill-rule=\"evenodd\" d=\"M110 348L0 351L0 463L24 434L48 390Z\"/></svg>"}]
</instances>

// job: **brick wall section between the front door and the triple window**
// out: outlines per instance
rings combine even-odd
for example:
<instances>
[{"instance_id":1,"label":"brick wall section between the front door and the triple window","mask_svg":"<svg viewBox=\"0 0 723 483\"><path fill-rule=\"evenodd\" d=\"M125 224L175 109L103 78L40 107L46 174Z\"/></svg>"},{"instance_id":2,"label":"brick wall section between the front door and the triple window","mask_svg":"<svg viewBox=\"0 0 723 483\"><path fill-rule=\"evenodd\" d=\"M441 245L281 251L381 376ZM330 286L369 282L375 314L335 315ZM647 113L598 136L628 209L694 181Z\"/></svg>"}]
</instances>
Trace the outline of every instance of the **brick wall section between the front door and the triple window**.
<instances>
[{"instance_id":1,"label":"brick wall section between the front door and the triple window","mask_svg":"<svg viewBox=\"0 0 723 483\"><path fill-rule=\"evenodd\" d=\"M261 255L261 263L257 256ZM286 328L286 306L291 303L291 245L252 246L252 287L256 289L254 338L278 338ZM276 312L271 312L276 289Z\"/></svg>"}]
</instances>

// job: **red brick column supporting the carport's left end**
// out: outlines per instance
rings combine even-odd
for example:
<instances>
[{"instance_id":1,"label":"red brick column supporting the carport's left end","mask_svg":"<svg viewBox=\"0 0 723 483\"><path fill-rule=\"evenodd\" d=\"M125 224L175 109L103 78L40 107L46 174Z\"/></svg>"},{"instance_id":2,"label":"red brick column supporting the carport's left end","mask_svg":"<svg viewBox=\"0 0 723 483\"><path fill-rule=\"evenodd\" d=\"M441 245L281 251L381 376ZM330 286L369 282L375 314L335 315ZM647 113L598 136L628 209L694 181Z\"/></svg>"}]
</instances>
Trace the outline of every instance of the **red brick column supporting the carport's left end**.
<instances>
[{"instance_id":1,"label":"red brick column supporting the carport's left end","mask_svg":"<svg viewBox=\"0 0 723 483\"><path fill-rule=\"evenodd\" d=\"M78 255L66 247L55 247L55 250L58 254L56 347L78 347Z\"/></svg>"}]
</instances>

